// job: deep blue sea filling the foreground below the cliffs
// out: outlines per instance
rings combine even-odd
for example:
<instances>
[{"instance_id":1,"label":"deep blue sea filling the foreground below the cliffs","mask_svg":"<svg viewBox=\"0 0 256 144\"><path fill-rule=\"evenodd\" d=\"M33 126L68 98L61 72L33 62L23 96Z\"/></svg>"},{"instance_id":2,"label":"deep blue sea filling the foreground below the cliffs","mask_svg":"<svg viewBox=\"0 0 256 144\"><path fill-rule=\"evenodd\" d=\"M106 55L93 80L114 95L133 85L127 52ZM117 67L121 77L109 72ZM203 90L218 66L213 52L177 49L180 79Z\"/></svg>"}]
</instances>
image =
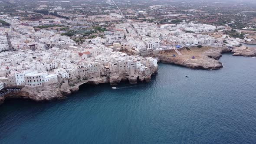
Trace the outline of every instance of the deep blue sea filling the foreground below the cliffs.
<instances>
[{"instance_id":1,"label":"deep blue sea filling the foreground below the cliffs","mask_svg":"<svg viewBox=\"0 0 256 144\"><path fill-rule=\"evenodd\" d=\"M214 71L160 63L149 83L83 85L61 101L8 100L0 143L256 143L256 59L220 61Z\"/></svg>"}]
</instances>

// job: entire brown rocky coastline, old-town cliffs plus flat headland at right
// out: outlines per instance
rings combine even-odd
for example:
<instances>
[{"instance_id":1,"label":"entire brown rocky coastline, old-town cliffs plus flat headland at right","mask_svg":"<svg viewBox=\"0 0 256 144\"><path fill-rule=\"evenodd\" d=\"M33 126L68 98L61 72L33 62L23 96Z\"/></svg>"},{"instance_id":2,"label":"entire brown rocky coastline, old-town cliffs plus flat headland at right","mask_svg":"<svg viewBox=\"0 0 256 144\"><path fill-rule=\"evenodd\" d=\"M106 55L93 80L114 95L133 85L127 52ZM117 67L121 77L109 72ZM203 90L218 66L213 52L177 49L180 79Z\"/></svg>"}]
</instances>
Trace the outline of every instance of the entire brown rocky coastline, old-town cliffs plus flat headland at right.
<instances>
[{"instance_id":1,"label":"entire brown rocky coastline, old-town cliffs plus flat headland at right","mask_svg":"<svg viewBox=\"0 0 256 144\"><path fill-rule=\"evenodd\" d=\"M191 52L193 49L188 50ZM186 48L179 49L182 53L185 53ZM251 49L249 49L251 50ZM219 48L207 48L206 50L199 50L198 57L195 59L191 57L177 56L173 57L167 55L167 53L175 53L174 50L168 50L166 53L158 53L152 55L154 58L158 58L158 62L170 63L174 65L184 66L190 69L204 69L204 70L217 70L223 68L221 62L218 59L224 52L232 52L233 56L256 56L256 50L248 51L247 49L229 49L226 46ZM91 79L69 79L69 82L63 82L62 84L56 83L52 85L45 85L41 88L23 87L19 92L10 92L7 95L0 97L0 105L3 104L6 98L27 98L33 101L52 101L66 98L66 96L77 92L79 86L83 84L98 85L103 83L109 83L110 85L117 85L122 81L128 81L131 84L135 84L138 81L149 82L151 75L157 73L158 67L152 67L148 74L138 73L137 75L127 75L125 73L119 75L105 75L100 77L92 77Z\"/></svg>"}]
</instances>

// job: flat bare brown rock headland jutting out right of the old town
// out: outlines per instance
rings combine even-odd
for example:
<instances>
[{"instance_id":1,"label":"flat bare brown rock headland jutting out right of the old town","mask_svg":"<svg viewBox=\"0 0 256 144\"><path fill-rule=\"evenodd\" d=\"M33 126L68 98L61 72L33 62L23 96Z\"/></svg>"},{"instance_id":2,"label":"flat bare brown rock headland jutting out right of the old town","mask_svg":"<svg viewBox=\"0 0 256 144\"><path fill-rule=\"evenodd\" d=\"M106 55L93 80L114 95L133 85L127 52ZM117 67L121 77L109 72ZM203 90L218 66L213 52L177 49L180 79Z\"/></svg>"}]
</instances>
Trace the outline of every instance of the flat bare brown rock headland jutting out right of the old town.
<instances>
[{"instance_id":1,"label":"flat bare brown rock headland jutting out right of the old town","mask_svg":"<svg viewBox=\"0 0 256 144\"><path fill-rule=\"evenodd\" d=\"M182 53L181 56L177 56L174 50L167 50L152 57L158 58L158 62L171 63L190 69L215 70L223 68L222 63L218 59L220 59L224 52L232 52L233 56L256 56L256 48L248 47L237 47L234 49L227 48L226 46L218 48L209 47L207 49L194 47L182 48L179 51ZM173 54L176 56L174 57ZM192 58L193 56L195 57L194 59Z\"/></svg>"}]
</instances>

